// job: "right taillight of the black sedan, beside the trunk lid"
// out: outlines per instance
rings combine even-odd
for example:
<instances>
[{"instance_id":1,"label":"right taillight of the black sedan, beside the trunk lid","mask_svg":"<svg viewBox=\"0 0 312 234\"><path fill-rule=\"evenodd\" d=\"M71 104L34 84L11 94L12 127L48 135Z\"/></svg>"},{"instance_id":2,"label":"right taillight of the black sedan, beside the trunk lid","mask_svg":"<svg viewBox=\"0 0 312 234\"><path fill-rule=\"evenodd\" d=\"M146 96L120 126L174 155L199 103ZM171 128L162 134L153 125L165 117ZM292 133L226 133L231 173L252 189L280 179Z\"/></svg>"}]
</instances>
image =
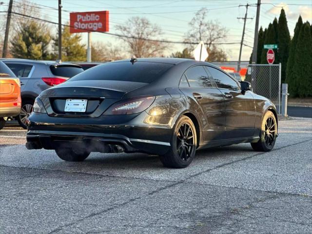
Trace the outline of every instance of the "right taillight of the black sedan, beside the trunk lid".
<instances>
[{"instance_id":1,"label":"right taillight of the black sedan, beside the trunk lid","mask_svg":"<svg viewBox=\"0 0 312 234\"><path fill-rule=\"evenodd\" d=\"M145 111L154 102L154 96L130 98L118 101L108 108L103 115L130 115Z\"/></svg>"}]
</instances>

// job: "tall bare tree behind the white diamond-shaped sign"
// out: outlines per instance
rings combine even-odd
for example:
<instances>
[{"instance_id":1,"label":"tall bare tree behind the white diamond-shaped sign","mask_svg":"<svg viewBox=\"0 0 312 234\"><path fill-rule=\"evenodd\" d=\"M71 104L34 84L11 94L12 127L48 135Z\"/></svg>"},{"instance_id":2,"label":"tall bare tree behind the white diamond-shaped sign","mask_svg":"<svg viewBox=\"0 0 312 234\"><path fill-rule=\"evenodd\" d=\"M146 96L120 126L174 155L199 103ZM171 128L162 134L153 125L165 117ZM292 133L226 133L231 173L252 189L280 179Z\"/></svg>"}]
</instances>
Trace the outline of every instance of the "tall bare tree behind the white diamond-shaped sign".
<instances>
[{"instance_id":1,"label":"tall bare tree behind the white diamond-shaped sign","mask_svg":"<svg viewBox=\"0 0 312 234\"><path fill-rule=\"evenodd\" d=\"M228 30L220 25L217 20L207 20L208 11L201 8L189 22L190 30L186 33L185 42L199 43L203 41L209 54L208 61L226 60L226 53L216 43L222 42L227 37ZM190 44L193 49L194 44Z\"/></svg>"}]
</instances>

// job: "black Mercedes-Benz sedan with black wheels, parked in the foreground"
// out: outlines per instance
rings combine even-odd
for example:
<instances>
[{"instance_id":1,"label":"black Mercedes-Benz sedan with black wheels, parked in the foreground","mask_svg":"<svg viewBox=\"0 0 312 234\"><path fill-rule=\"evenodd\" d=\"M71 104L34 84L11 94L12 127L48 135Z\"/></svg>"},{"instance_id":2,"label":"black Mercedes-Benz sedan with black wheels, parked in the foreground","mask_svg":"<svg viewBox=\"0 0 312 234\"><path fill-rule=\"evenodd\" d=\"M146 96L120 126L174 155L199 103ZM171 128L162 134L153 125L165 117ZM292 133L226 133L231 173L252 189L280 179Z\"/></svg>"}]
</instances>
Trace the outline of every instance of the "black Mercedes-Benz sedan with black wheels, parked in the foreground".
<instances>
[{"instance_id":1,"label":"black Mercedes-Benz sedan with black wheels, parked in the foreground","mask_svg":"<svg viewBox=\"0 0 312 234\"><path fill-rule=\"evenodd\" d=\"M26 147L66 161L144 152L184 168L198 149L250 142L270 151L276 137L274 104L248 82L208 62L149 58L98 65L43 91Z\"/></svg>"}]
</instances>

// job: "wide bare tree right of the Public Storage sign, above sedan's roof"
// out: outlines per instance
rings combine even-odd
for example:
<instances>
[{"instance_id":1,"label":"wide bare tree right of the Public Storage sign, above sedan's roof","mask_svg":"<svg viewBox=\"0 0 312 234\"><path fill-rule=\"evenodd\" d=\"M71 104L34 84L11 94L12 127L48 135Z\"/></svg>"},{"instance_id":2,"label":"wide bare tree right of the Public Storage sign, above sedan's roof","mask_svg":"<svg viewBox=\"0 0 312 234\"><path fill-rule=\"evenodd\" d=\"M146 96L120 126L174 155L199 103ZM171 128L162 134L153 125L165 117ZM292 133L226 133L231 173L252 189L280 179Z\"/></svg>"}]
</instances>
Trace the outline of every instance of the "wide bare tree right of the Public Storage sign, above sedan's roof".
<instances>
[{"instance_id":1,"label":"wide bare tree right of the Public Storage sign, above sedan's roof","mask_svg":"<svg viewBox=\"0 0 312 234\"><path fill-rule=\"evenodd\" d=\"M128 52L141 57L162 56L166 44L146 39L159 39L162 35L161 29L143 17L132 17L124 25L117 25L119 34L129 38L122 38L128 44Z\"/></svg>"}]
</instances>

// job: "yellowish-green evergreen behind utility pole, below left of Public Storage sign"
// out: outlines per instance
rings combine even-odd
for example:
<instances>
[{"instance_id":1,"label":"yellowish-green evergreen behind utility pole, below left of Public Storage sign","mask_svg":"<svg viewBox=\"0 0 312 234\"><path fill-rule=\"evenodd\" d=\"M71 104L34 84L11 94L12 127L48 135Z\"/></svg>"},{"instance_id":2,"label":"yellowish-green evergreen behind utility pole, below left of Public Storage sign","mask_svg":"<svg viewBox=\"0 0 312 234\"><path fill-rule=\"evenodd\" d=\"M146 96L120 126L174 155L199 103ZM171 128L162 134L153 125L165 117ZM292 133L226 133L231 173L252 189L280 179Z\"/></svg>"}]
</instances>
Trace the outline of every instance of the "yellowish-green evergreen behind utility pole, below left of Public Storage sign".
<instances>
[{"instance_id":1,"label":"yellowish-green evergreen behind utility pole, below left of Public Storage sign","mask_svg":"<svg viewBox=\"0 0 312 234\"><path fill-rule=\"evenodd\" d=\"M85 61L87 52L85 45L80 43L80 34L71 34L69 27L64 26L62 29L62 60L63 61ZM54 59L58 58L59 40L56 36L54 39Z\"/></svg>"}]
</instances>

